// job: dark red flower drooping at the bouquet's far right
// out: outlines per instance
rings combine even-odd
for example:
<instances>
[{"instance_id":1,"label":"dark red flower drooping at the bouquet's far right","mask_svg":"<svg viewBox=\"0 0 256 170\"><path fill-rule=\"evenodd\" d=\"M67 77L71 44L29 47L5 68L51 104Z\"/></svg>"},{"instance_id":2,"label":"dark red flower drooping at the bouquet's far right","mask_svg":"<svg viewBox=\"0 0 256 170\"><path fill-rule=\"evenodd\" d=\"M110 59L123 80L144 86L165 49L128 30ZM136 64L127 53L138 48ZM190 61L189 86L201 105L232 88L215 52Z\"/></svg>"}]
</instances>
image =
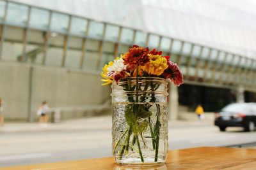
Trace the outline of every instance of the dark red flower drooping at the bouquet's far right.
<instances>
[{"instance_id":1,"label":"dark red flower drooping at the bouquet's far right","mask_svg":"<svg viewBox=\"0 0 256 170\"><path fill-rule=\"evenodd\" d=\"M176 86L181 85L183 83L183 75L179 66L170 60L167 64L168 68L163 73L164 78L169 78Z\"/></svg>"}]
</instances>

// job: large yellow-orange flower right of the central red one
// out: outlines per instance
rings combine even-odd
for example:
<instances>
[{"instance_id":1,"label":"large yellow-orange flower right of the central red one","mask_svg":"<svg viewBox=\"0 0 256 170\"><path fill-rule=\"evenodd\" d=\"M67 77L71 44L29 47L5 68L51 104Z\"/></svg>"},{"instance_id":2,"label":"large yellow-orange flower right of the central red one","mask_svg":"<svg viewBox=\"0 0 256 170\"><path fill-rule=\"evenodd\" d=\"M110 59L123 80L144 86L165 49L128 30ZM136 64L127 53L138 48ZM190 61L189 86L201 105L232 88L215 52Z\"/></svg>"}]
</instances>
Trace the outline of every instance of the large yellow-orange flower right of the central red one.
<instances>
[{"instance_id":1,"label":"large yellow-orange flower right of the central red one","mask_svg":"<svg viewBox=\"0 0 256 170\"><path fill-rule=\"evenodd\" d=\"M148 54L149 62L141 70L150 75L160 76L168 68L167 60L162 55Z\"/></svg>"}]
</instances>

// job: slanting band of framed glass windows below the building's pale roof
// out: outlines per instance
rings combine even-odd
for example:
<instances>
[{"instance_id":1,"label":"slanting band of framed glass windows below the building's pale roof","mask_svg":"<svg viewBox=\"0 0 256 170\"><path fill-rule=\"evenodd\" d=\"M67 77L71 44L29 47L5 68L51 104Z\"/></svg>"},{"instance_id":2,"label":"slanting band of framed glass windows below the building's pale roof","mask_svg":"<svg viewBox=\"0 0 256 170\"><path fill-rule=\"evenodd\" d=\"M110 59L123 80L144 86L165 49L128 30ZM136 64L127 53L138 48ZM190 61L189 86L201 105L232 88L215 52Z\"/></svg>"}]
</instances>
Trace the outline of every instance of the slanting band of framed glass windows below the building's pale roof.
<instances>
[{"instance_id":1,"label":"slanting band of framed glass windows below the building's pale roof","mask_svg":"<svg viewBox=\"0 0 256 170\"><path fill-rule=\"evenodd\" d=\"M242 82L250 88L256 85L255 59L4 0L0 0L0 40L1 60L93 71L100 71L109 60L138 44L172 55L172 61L180 65L185 80L220 85ZM241 78L244 74L246 78Z\"/></svg>"}]
</instances>

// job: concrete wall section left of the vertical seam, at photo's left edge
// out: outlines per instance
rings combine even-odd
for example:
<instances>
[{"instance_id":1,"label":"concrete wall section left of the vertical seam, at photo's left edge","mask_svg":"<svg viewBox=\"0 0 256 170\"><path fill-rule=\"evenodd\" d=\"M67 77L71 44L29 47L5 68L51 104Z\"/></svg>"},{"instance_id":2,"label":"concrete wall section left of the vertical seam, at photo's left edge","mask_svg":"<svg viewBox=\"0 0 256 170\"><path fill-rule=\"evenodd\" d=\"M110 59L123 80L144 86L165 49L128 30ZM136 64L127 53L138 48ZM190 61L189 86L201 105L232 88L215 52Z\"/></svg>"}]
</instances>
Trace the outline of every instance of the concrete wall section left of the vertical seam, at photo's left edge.
<instances>
[{"instance_id":1,"label":"concrete wall section left of the vertical seam, at photo's left edge","mask_svg":"<svg viewBox=\"0 0 256 170\"><path fill-rule=\"evenodd\" d=\"M28 116L29 67L0 62L0 97L4 117L26 119Z\"/></svg>"}]
</instances>

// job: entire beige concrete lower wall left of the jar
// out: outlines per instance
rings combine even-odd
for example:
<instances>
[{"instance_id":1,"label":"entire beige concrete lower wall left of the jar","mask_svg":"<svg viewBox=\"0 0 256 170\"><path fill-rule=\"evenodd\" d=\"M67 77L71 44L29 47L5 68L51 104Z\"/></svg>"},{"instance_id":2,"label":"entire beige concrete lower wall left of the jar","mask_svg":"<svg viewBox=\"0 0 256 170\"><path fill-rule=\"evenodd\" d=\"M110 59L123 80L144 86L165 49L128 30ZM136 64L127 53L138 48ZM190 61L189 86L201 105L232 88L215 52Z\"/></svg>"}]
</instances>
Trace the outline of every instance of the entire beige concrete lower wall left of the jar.
<instances>
[{"instance_id":1,"label":"entire beige concrete lower wall left of the jar","mask_svg":"<svg viewBox=\"0 0 256 170\"><path fill-rule=\"evenodd\" d=\"M30 67L29 64L0 62L0 97L4 101L6 119L28 119ZM61 107L102 104L110 98L110 87L101 86L97 72L33 66L31 80L34 120L44 100L50 107Z\"/></svg>"}]
</instances>

